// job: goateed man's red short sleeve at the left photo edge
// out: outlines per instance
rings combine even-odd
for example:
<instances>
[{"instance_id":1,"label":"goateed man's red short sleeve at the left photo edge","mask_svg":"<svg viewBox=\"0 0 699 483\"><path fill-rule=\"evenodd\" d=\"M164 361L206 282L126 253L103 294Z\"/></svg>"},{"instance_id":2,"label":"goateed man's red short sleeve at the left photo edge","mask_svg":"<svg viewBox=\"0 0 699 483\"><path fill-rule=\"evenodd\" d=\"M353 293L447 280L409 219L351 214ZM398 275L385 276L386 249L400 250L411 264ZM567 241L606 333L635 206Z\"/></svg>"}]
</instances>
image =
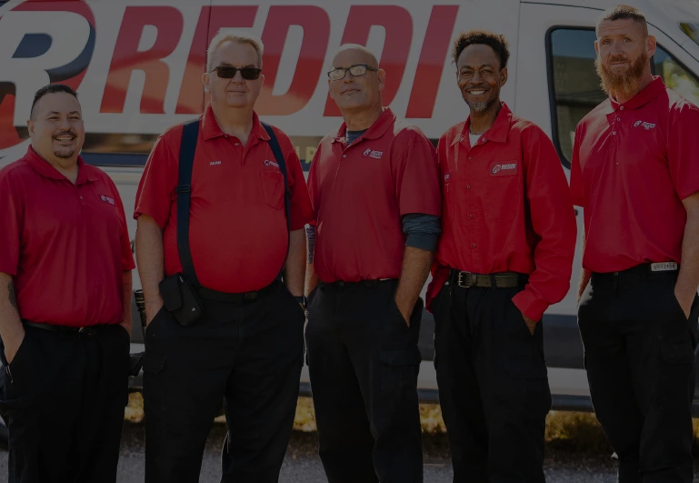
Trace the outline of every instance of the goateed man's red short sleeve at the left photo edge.
<instances>
[{"instance_id":1,"label":"goateed man's red short sleeve at the left photo edge","mask_svg":"<svg viewBox=\"0 0 699 483\"><path fill-rule=\"evenodd\" d=\"M9 169L0 171L0 272L15 277L19 266L24 209L18 184L10 183Z\"/></svg>"}]
</instances>

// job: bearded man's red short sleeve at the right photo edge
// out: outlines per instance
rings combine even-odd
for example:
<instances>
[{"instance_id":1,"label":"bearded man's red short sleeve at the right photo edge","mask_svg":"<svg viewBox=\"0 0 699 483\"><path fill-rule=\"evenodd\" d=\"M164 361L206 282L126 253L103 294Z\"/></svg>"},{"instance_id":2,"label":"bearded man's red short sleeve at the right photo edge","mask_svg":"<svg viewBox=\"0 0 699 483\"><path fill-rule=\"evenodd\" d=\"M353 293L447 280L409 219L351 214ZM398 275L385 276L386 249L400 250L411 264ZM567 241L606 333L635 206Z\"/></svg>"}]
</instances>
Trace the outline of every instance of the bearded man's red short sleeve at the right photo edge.
<instances>
[{"instance_id":1,"label":"bearded man's red short sleeve at the right photo edge","mask_svg":"<svg viewBox=\"0 0 699 483\"><path fill-rule=\"evenodd\" d=\"M676 109L679 111L669 129L667 164L674 190L684 199L699 191L699 108L685 103Z\"/></svg>"}]
</instances>

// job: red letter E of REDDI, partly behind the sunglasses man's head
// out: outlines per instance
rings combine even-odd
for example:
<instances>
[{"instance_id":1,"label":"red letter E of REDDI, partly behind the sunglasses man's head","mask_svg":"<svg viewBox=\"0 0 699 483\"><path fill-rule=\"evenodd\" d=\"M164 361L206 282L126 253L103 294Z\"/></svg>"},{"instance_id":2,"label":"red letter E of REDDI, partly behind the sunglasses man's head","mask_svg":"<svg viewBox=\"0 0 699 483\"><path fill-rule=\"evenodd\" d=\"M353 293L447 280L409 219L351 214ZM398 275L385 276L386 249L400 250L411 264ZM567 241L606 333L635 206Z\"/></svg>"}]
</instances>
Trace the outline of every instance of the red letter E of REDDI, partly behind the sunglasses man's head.
<instances>
[{"instance_id":1,"label":"red letter E of REDDI, partly behind the sunglasses man's head","mask_svg":"<svg viewBox=\"0 0 699 483\"><path fill-rule=\"evenodd\" d=\"M202 8L192 49L187 58L175 114L199 114L204 111L202 75L205 73L206 50L211 39L223 27L252 27L256 14L257 6L254 5L215 5Z\"/></svg>"}]
</instances>

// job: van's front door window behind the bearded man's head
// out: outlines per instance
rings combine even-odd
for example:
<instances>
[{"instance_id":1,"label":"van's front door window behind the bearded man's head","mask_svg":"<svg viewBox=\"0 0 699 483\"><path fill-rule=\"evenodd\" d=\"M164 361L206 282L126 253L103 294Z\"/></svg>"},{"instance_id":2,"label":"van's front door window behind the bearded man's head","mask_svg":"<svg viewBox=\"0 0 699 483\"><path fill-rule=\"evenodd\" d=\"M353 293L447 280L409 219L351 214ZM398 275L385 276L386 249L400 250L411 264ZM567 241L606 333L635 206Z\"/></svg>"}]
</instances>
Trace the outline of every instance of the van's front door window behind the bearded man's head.
<instances>
[{"instance_id":1,"label":"van's front door window behind the bearded man's head","mask_svg":"<svg viewBox=\"0 0 699 483\"><path fill-rule=\"evenodd\" d=\"M546 39L554 145L566 167L573 154L575 126L606 98L594 69L594 38L593 29L554 28ZM666 86L699 106L696 75L661 45L655 50L652 68Z\"/></svg>"}]
</instances>

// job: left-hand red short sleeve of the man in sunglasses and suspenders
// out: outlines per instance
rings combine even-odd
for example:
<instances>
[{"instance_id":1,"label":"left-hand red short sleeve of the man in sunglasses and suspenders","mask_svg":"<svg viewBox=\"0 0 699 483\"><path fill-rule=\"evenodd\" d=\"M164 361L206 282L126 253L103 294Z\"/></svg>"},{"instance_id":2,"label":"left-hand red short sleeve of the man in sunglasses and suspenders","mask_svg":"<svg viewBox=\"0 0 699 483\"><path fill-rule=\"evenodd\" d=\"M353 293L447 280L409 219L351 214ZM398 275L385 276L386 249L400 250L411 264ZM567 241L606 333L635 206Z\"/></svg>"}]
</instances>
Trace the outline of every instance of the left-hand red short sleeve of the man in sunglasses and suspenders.
<instances>
[{"instance_id":1,"label":"left-hand red short sleeve of the man in sunglasses and suspenders","mask_svg":"<svg viewBox=\"0 0 699 483\"><path fill-rule=\"evenodd\" d=\"M177 156L168 143L167 135L181 134L181 129L171 130L158 137L145 162L144 174L135 197L134 218L151 216L155 223L165 229L177 187Z\"/></svg>"}]
</instances>

